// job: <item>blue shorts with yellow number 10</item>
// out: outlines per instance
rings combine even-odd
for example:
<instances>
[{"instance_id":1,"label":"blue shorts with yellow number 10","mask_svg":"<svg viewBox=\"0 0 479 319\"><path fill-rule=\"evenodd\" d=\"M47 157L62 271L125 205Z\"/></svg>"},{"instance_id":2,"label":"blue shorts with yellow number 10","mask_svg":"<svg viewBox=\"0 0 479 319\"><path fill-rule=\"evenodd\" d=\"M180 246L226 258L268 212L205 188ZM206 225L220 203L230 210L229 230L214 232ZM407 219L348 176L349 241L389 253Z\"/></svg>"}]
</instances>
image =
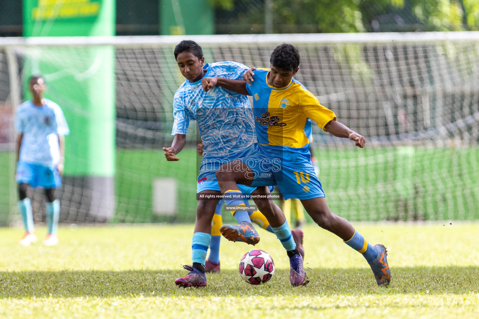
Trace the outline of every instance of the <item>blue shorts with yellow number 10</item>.
<instances>
[{"instance_id":1,"label":"blue shorts with yellow number 10","mask_svg":"<svg viewBox=\"0 0 479 319\"><path fill-rule=\"evenodd\" d=\"M254 173L250 187L278 185L285 199L325 197L308 155L281 154L260 147L256 154L239 160Z\"/></svg>"}]
</instances>

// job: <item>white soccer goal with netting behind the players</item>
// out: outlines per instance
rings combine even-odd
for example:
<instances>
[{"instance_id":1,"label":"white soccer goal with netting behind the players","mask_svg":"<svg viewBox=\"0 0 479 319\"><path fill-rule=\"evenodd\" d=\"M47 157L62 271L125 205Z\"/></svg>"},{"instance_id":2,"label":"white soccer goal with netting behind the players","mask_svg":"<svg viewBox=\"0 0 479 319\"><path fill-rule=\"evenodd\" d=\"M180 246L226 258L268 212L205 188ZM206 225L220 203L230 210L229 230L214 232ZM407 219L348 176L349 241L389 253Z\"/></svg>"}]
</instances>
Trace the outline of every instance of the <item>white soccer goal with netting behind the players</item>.
<instances>
[{"instance_id":1,"label":"white soccer goal with netting behind the players","mask_svg":"<svg viewBox=\"0 0 479 319\"><path fill-rule=\"evenodd\" d=\"M207 63L233 60L256 67L269 67L276 45L297 46L301 64L295 78L367 141L365 149L356 149L313 128L319 180L334 213L371 221L479 219L479 32L449 32L0 38L0 222L18 220L11 189L11 125L14 101L25 99L25 60L40 48L51 53L46 59L62 69L44 74L48 84L52 77L93 74L101 65L88 56L93 47L114 54L115 209L110 221L193 222L196 125L190 124L180 162L166 162L161 151L172 140L172 99L184 81L172 51L184 39L202 46ZM94 116L79 110L74 97L48 89L51 99L68 110L69 123ZM67 143L81 141L67 137ZM66 167L82 163L74 147L65 156ZM68 183L67 170L58 192L60 220L95 222L85 210L94 194ZM168 185L177 196L163 214L164 208L155 205L168 200L162 198L171 194ZM38 191L32 194L41 199ZM41 221L44 206L35 205L34 218Z\"/></svg>"}]
</instances>

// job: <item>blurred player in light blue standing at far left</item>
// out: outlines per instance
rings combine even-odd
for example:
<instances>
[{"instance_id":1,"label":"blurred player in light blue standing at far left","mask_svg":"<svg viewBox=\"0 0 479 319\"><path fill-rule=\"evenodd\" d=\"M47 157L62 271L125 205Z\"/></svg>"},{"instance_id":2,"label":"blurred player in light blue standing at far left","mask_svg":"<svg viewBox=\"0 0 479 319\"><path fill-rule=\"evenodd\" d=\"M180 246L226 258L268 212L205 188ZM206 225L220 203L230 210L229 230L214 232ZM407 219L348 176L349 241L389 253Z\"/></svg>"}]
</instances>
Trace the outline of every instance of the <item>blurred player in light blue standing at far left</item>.
<instances>
[{"instance_id":1,"label":"blurred player in light blue standing at far left","mask_svg":"<svg viewBox=\"0 0 479 319\"><path fill-rule=\"evenodd\" d=\"M20 196L18 207L25 226L25 234L19 241L23 246L36 242L28 185L45 188L47 235L43 244L58 243L60 202L55 198L55 189L61 186L64 136L70 131L57 103L43 97L45 89L43 77L30 77L32 99L20 104L15 112L14 126L18 132L15 179Z\"/></svg>"}]
</instances>

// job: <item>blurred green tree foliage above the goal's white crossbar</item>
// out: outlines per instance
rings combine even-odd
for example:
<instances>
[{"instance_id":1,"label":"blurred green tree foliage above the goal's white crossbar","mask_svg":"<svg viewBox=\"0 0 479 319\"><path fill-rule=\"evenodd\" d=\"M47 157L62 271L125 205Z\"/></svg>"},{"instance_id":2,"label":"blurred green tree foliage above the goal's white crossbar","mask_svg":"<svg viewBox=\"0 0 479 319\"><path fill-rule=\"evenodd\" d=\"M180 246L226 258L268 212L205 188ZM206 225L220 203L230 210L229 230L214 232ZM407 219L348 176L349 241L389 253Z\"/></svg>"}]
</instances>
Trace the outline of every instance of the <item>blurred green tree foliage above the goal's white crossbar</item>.
<instances>
[{"instance_id":1,"label":"blurred green tree foliage above the goal's white crossbar","mask_svg":"<svg viewBox=\"0 0 479 319\"><path fill-rule=\"evenodd\" d=\"M217 33L264 32L265 0L210 0ZM272 0L275 33L479 30L479 0Z\"/></svg>"}]
</instances>

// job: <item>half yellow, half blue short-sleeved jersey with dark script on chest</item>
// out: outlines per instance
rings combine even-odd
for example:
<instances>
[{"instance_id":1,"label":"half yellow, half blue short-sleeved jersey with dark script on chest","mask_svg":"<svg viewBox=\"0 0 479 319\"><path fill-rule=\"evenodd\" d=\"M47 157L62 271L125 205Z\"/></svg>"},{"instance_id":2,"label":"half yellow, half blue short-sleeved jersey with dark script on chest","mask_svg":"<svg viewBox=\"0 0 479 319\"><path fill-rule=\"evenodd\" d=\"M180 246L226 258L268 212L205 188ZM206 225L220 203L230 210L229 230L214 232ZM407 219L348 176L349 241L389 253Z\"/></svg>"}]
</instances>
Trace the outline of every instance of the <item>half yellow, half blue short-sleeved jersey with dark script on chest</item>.
<instances>
[{"instance_id":1,"label":"half yellow, half blue short-sleeved jersey with dark script on chest","mask_svg":"<svg viewBox=\"0 0 479 319\"><path fill-rule=\"evenodd\" d=\"M311 120L324 130L329 121L336 120L336 115L294 77L284 88L270 86L269 71L257 68L254 81L246 85L253 97L258 143L268 149L308 154Z\"/></svg>"}]
</instances>

